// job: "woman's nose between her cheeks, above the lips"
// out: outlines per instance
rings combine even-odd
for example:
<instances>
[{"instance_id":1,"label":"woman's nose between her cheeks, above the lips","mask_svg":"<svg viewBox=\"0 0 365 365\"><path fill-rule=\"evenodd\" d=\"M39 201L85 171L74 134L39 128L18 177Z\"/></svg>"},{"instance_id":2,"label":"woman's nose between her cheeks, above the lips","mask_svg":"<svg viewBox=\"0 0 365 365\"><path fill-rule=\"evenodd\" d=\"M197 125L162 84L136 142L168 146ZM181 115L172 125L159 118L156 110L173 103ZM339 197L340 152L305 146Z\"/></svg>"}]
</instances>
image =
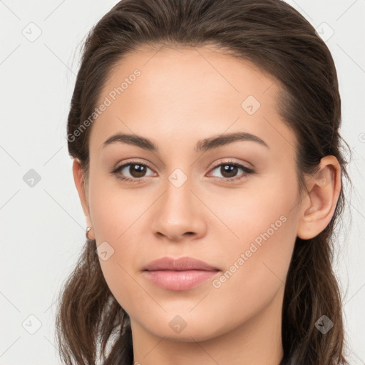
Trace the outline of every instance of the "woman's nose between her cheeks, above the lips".
<instances>
[{"instance_id":1,"label":"woman's nose between her cheeks, above the lips","mask_svg":"<svg viewBox=\"0 0 365 365\"><path fill-rule=\"evenodd\" d=\"M153 233L174 242L196 240L205 235L204 207L197 192L192 191L190 180L181 186L168 180L154 207Z\"/></svg>"}]
</instances>

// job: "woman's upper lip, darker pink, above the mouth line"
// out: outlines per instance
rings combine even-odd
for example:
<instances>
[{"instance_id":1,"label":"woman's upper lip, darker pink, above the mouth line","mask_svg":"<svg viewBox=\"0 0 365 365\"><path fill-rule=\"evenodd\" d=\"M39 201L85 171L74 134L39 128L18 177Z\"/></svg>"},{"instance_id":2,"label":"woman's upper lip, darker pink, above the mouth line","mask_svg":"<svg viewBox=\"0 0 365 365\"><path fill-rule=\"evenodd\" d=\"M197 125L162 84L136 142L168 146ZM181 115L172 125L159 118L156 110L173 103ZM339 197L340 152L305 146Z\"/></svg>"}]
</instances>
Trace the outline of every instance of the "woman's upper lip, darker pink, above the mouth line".
<instances>
[{"instance_id":1,"label":"woman's upper lip, darker pink, above the mouth line","mask_svg":"<svg viewBox=\"0 0 365 365\"><path fill-rule=\"evenodd\" d=\"M155 259L149 264L143 267L143 270L205 270L205 271L218 271L217 267L212 267L207 262L200 259L194 259L193 257L180 257L179 259L173 259L171 257L161 257Z\"/></svg>"}]
</instances>

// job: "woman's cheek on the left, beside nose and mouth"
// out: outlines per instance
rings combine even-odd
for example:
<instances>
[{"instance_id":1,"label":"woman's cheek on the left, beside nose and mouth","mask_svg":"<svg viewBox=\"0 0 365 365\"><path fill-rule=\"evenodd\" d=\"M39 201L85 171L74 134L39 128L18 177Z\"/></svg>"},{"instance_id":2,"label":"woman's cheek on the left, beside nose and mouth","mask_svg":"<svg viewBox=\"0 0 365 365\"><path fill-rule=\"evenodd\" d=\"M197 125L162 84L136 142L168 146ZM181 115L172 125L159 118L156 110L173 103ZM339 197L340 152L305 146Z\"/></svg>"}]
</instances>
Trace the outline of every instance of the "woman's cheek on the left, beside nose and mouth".
<instances>
[{"instance_id":1,"label":"woman's cheek on the left, beside nose and mouth","mask_svg":"<svg viewBox=\"0 0 365 365\"><path fill-rule=\"evenodd\" d=\"M110 184L110 179L98 176L89 185L91 220L103 276L115 299L127 311L133 310L135 301L145 301L145 292L132 277L139 269L136 263L143 249L136 228L138 217L150 203L135 191L120 189L118 183Z\"/></svg>"}]
</instances>

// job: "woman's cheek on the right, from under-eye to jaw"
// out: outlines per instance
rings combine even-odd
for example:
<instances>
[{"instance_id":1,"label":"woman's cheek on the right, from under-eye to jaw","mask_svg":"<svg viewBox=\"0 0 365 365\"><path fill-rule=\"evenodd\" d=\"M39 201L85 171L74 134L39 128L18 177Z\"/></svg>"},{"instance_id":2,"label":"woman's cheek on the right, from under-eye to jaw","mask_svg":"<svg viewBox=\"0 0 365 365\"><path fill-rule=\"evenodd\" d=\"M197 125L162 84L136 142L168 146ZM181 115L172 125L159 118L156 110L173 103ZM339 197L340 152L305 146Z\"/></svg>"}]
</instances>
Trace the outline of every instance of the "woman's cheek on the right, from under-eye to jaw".
<instances>
[{"instance_id":1,"label":"woman's cheek on the right, from under-eye to jaw","mask_svg":"<svg viewBox=\"0 0 365 365\"><path fill-rule=\"evenodd\" d=\"M227 240L226 271L212 285L223 302L235 292L241 302L232 302L232 310L264 305L284 287L297 237L297 180L270 180L266 188L236 194L231 209L220 210L236 237Z\"/></svg>"}]
</instances>

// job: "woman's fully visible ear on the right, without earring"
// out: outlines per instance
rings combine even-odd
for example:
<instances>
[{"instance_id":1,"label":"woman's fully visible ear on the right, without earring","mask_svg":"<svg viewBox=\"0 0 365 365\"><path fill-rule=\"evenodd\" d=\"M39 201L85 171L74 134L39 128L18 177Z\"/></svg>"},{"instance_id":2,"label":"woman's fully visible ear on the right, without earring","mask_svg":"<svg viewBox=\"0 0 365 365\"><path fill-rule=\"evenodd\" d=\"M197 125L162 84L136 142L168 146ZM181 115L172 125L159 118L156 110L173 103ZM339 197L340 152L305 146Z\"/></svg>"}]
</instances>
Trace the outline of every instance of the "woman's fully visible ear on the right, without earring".
<instances>
[{"instance_id":1,"label":"woman's fully visible ear on the right, without earring","mask_svg":"<svg viewBox=\"0 0 365 365\"><path fill-rule=\"evenodd\" d=\"M309 240L327 227L341 190L341 166L334 156L325 156L319 172L307 181L308 195L303 200L297 236Z\"/></svg>"}]
</instances>

